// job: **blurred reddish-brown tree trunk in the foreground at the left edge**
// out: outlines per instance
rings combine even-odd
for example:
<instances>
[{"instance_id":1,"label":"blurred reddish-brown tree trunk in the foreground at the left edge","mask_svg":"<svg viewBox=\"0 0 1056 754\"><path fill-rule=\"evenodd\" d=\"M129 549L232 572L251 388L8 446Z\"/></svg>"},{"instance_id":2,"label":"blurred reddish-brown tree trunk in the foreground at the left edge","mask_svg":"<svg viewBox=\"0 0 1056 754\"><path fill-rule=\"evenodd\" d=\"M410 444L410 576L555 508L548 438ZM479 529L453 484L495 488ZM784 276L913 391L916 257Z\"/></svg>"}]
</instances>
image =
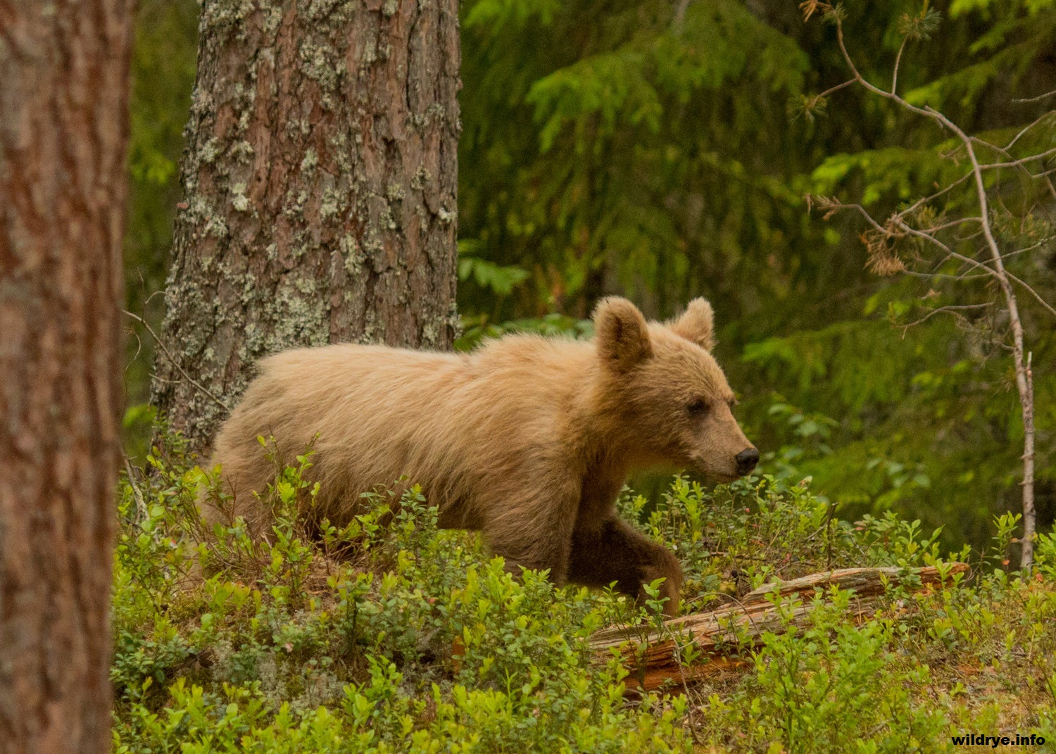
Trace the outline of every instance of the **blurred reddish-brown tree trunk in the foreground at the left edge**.
<instances>
[{"instance_id":1,"label":"blurred reddish-brown tree trunk in the foreground at the left edge","mask_svg":"<svg viewBox=\"0 0 1056 754\"><path fill-rule=\"evenodd\" d=\"M130 0L0 2L0 752L110 750Z\"/></svg>"}]
</instances>

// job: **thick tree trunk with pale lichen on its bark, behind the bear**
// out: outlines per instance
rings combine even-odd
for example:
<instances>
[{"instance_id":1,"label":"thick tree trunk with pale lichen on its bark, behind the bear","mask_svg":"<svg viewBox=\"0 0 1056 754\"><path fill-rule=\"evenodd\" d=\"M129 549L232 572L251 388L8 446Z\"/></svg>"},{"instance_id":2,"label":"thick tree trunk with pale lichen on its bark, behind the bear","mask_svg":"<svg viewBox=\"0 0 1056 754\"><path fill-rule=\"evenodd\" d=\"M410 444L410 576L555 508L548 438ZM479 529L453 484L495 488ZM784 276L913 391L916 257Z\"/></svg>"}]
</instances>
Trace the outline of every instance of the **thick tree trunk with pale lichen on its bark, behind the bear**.
<instances>
[{"instance_id":1,"label":"thick tree trunk with pale lichen on its bark, behind the bear","mask_svg":"<svg viewBox=\"0 0 1056 754\"><path fill-rule=\"evenodd\" d=\"M261 356L451 345L458 64L456 0L204 3L152 387L192 450Z\"/></svg>"}]
</instances>

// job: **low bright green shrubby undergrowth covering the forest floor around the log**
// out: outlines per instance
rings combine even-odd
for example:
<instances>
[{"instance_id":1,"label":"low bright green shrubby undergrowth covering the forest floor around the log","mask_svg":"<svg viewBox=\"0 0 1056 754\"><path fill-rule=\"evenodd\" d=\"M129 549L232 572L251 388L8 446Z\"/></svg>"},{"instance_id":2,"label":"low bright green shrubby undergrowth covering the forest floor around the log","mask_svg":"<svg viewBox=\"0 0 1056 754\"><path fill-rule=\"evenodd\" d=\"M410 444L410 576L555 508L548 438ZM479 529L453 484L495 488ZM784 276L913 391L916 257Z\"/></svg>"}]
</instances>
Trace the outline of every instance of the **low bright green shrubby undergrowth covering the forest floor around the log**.
<instances>
[{"instance_id":1,"label":"low bright green shrubby undergrowth covering the forest floor around the log","mask_svg":"<svg viewBox=\"0 0 1056 754\"><path fill-rule=\"evenodd\" d=\"M732 670L649 694L590 636L662 625L659 603L514 578L479 538L437 528L417 488L379 490L343 528L303 508L310 454L278 469L265 542L230 516L212 473L178 450L121 485L115 561L114 751L911 752L951 736L1056 741L1056 542L1031 578L1006 571L997 522L970 579L892 588L874 615L850 592L797 602ZM622 513L679 555L682 610L776 579L852 566L942 566L938 535L893 515L841 521L806 486L754 476L708 491L676 477ZM395 512L394 512L395 511ZM911 582L911 580L910 580ZM686 661L694 659L685 647ZM1040 747L1046 750L1049 743ZM1034 747L1037 748L1037 747ZM989 751L994 749L987 747ZM998 751L1032 747L999 746ZM981 749L980 749L981 750Z\"/></svg>"}]
</instances>

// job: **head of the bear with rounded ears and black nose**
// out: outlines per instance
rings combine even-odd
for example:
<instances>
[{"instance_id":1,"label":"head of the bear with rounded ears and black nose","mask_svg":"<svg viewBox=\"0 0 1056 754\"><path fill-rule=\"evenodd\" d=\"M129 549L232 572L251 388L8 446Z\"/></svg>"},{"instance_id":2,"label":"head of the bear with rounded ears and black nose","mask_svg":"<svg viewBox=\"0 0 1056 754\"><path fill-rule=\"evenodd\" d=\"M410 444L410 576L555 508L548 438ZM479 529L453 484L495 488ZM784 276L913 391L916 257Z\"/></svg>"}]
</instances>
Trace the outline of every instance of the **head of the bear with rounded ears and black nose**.
<instances>
[{"instance_id":1,"label":"head of the bear with rounded ears and black nose","mask_svg":"<svg viewBox=\"0 0 1056 754\"><path fill-rule=\"evenodd\" d=\"M694 299L681 317L659 323L614 297L593 321L604 411L635 466L692 467L717 482L755 468L759 451L733 417L733 391L711 354L708 301Z\"/></svg>"}]
</instances>

